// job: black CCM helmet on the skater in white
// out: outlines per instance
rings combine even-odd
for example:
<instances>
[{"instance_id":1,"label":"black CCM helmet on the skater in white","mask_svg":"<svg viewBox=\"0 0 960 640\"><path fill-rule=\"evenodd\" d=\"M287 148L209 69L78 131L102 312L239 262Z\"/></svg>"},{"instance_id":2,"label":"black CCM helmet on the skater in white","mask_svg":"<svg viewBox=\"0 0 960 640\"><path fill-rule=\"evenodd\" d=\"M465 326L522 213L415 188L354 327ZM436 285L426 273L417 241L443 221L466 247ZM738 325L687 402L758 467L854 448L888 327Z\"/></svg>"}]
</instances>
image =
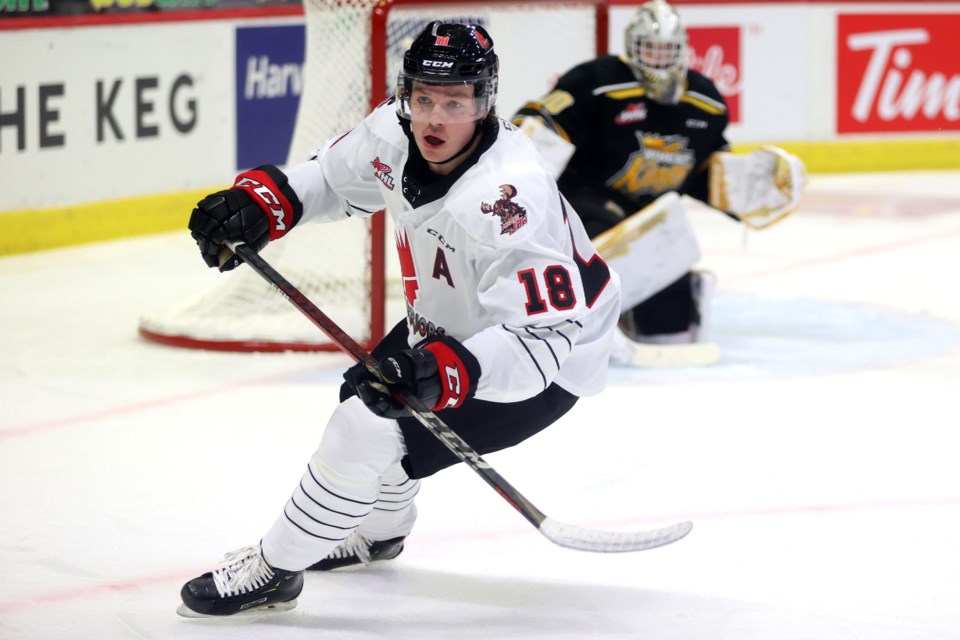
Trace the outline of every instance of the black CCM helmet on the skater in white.
<instances>
[{"instance_id":1,"label":"black CCM helmet on the skater in white","mask_svg":"<svg viewBox=\"0 0 960 640\"><path fill-rule=\"evenodd\" d=\"M499 61L493 38L480 25L444 23L426 26L403 55L397 78L398 113L411 119L414 81L429 85L466 84L474 87L474 119L486 116L497 102Z\"/></svg>"}]
</instances>

